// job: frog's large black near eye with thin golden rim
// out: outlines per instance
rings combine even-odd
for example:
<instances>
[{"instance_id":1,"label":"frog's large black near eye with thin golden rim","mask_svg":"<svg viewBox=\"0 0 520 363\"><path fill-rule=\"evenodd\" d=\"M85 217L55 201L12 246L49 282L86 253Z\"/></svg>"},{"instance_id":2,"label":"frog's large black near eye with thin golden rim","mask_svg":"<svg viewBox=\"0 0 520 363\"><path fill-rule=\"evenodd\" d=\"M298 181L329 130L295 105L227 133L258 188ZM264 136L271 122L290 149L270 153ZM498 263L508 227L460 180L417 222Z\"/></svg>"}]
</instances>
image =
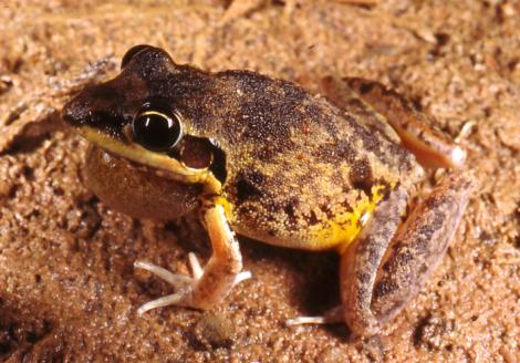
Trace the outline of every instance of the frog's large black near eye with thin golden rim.
<instances>
[{"instance_id":1,"label":"frog's large black near eye with thin golden rim","mask_svg":"<svg viewBox=\"0 0 520 363\"><path fill-rule=\"evenodd\" d=\"M139 113L132 123L137 143L154 152L168 152L183 137L183 124L176 113L173 117L157 112Z\"/></svg>"}]
</instances>

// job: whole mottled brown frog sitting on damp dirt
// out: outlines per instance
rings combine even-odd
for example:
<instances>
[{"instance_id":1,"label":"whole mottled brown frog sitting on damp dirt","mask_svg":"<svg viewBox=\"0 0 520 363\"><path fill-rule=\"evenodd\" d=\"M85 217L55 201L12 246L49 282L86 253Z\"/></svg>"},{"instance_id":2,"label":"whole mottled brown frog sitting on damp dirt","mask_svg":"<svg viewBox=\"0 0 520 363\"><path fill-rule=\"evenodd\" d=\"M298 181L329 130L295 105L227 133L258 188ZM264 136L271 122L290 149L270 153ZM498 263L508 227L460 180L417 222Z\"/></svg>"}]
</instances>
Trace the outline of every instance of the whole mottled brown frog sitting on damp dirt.
<instances>
[{"instance_id":1,"label":"whole mottled brown frog sitting on damp dirt","mask_svg":"<svg viewBox=\"0 0 520 363\"><path fill-rule=\"evenodd\" d=\"M85 87L62 118L89 141L86 183L133 217L195 214L211 243L191 276L148 261L174 293L138 309L209 310L251 277L237 236L340 255L341 303L288 325L344 322L372 336L439 265L474 178L465 149L412 102L361 77L325 76L319 93L247 70L204 71L139 44L114 79ZM424 197L427 168L445 176Z\"/></svg>"}]
</instances>

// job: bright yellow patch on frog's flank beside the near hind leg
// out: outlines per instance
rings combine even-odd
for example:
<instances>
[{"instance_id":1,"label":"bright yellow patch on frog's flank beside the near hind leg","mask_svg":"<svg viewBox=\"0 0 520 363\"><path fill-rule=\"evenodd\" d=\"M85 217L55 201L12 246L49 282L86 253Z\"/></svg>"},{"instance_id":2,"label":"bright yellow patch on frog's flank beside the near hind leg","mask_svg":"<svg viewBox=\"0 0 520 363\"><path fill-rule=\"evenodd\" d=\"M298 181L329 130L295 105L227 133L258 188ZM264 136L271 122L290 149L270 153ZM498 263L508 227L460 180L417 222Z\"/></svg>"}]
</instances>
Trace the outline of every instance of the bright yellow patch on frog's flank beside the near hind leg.
<instances>
[{"instance_id":1,"label":"bright yellow patch on frog's flank beside the near hind leg","mask_svg":"<svg viewBox=\"0 0 520 363\"><path fill-rule=\"evenodd\" d=\"M335 247L340 255L345 252L371 218L377 203L383 199L382 189L383 185L373 186L372 197L361 200L353 211L340 214L322 225L312 227L311 232L314 235L316 246L323 249Z\"/></svg>"}]
</instances>

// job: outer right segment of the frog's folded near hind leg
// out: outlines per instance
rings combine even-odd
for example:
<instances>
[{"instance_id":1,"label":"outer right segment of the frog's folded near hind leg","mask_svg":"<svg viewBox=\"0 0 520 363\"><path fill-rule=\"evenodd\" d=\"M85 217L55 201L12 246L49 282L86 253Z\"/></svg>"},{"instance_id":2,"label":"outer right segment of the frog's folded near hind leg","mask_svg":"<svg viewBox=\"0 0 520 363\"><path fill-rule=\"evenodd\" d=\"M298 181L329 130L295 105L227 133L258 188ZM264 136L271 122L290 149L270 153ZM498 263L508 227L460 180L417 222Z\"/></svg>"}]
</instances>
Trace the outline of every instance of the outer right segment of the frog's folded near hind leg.
<instances>
[{"instance_id":1,"label":"outer right segment of the frog's folded near hind leg","mask_svg":"<svg viewBox=\"0 0 520 363\"><path fill-rule=\"evenodd\" d=\"M383 259L372 310L379 322L395 315L422 289L449 246L460 222L472 180L454 173L409 215Z\"/></svg>"}]
</instances>

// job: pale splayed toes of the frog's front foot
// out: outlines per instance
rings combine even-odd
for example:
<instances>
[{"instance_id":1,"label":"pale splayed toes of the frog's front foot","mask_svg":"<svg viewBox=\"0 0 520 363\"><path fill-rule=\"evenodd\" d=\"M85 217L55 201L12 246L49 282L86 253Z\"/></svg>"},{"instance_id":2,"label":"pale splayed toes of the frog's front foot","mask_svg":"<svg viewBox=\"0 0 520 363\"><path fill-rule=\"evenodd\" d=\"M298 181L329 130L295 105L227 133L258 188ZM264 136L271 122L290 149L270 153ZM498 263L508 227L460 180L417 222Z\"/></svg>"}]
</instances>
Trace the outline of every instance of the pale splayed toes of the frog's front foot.
<instances>
[{"instance_id":1,"label":"pale splayed toes of the frog's front foot","mask_svg":"<svg viewBox=\"0 0 520 363\"><path fill-rule=\"evenodd\" d=\"M157 276L158 278L165 280L169 284L171 284L178 292L168 294L166 297L162 297L156 300L152 300L145 304L143 304L139 309L137 309L137 313L144 314L148 310L153 310L156 308L163 308L167 305L178 305L178 307L193 307L197 308L193 303L190 303L189 294L190 290L197 284L200 278L204 274L204 268L200 266L200 262L195 256L195 253L189 252L188 255L189 267L191 269L193 277L180 274L180 273L173 273L160 266L153 265L146 261L136 261L134 267L144 269L153 274ZM251 271L241 271L235 277L235 281L232 286L237 283L250 279L252 277Z\"/></svg>"}]
</instances>

